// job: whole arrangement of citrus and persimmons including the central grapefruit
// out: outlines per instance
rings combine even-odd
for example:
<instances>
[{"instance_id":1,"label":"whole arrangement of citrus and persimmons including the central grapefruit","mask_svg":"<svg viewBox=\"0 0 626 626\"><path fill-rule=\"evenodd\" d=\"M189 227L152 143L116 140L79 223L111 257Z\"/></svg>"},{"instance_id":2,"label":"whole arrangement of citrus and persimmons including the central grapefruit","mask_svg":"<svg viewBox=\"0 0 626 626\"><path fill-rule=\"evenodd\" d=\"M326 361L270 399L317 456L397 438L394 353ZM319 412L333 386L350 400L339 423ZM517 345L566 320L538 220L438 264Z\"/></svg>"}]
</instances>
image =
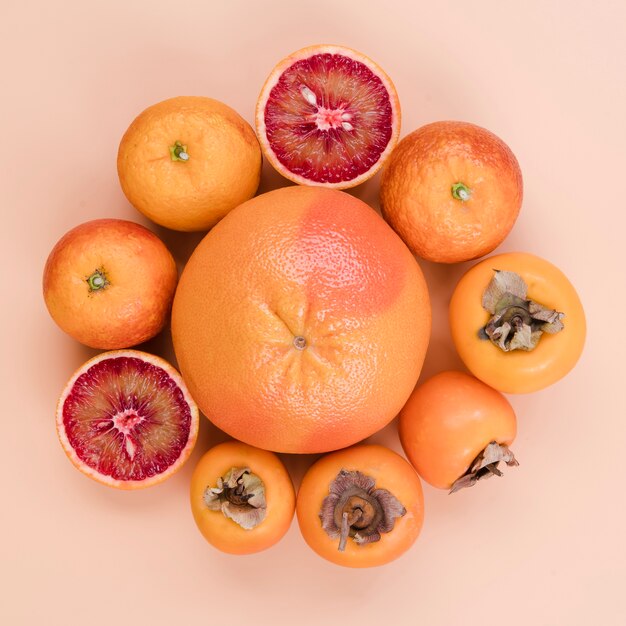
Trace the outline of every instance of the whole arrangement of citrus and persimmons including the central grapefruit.
<instances>
[{"instance_id":1,"label":"whole arrangement of citrus and persimmons including the central grapefruit","mask_svg":"<svg viewBox=\"0 0 626 626\"><path fill-rule=\"evenodd\" d=\"M123 220L79 225L50 253L50 315L106 350L57 407L78 469L121 489L158 483L191 454L200 410L233 438L206 452L191 480L211 544L265 549L297 512L321 556L367 567L417 539L420 477L454 492L517 465L516 416L502 393L571 370L585 340L580 300L532 254L479 262L449 308L471 375L441 372L416 388L431 308L415 257L456 263L493 251L516 221L522 176L509 147L473 124L399 135L389 77L326 45L274 68L256 133L205 97L160 102L132 122L117 162L129 202L161 226L210 230L180 280L163 242ZM253 197L262 156L297 185ZM380 168L384 219L339 191ZM180 374L129 349L170 319ZM398 415L408 461L358 444ZM277 452L327 454L296 494Z\"/></svg>"}]
</instances>

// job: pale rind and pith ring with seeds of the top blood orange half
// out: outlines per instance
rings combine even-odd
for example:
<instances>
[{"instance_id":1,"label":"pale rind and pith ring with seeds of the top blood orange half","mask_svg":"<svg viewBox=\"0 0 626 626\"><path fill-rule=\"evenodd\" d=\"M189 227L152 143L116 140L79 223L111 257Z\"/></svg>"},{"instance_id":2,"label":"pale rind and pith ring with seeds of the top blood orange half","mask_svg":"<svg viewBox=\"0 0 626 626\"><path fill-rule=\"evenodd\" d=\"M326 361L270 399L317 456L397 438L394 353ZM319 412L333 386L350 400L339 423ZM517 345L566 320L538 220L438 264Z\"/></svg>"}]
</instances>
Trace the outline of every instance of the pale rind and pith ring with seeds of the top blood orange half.
<instances>
[{"instance_id":1,"label":"pale rind and pith ring with seeds of the top blood orange half","mask_svg":"<svg viewBox=\"0 0 626 626\"><path fill-rule=\"evenodd\" d=\"M353 178L352 180L340 181L337 183L321 183L321 182L309 180L308 178L305 178L304 176L294 174L293 172L289 171L279 161L278 157L276 156L276 153L274 152L269 141L267 140L267 128L265 126L264 106L269 98L270 92L272 91L274 86L278 83L281 75L285 72L285 70L288 67L290 67L291 65L293 65L294 63L298 61L301 61L302 59L307 59L316 54L340 54L348 58L354 59L356 61L359 61L360 63L363 63L363 65L368 67L381 80L381 82L385 86L385 89L387 90L387 93L389 94L389 101L391 103L391 113L392 113L392 119L391 119L392 134L391 134L391 138L389 139L389 143L387 144L387 147L385 148L385 150L383 150L383 152L378 157L378 161L374 165L372 165L372 167L369 170L367 170L366 172L363 172L363 174L357 176L356 178ZM307 92L310 92L310 95ZM315 97L315 94L313 94L311 90L309 89L307 89L306 91L303 90L303 97L307 100L307 102L309 102L310 104L313 104L314 102L311 102L311 100L309 99L311 96L313 96L313 98ZM263 145L263 147L265 148L266 156L268 160L270 161L270 163L272 164L272 167L274 167L274 169L278 171L282 176L284 176L288 180L293 181L294 183L298 183L299 185L308 185L308 186L313 186L313 187L328 187L329 189L349 189L350 187L356 187L360 183L365 182L366 180L374 176L374 174L383 166L384 162L387 160L387 157L389 156L391 151L395 148L396 144L398 143L398 139L400 137L400 117L401 117L400 116L400 103L398 101L395 87L393 83L391 82L391 79L389 78L389 76L387 76L387 74L376 63L374 63L374 61L372 61L365 55L361 54L360 52L353 50L352 48L347 48L345 46L336 46L336 45L320 45L320 46L309 46L307 48L303 48L302 50L298 50L297 52L294 52L293 54L289 55L286 59L284 59L281 63L279 63L272 70L257 100L255 122L256 122L257 137L259 141L261 142L261 144ZM342 124L342 128L345 131L352 130L352 125L350 124L349 120L342 120L342 121L347 124L347 127ZM316 123L317 123L317 120L316 120ZM319 125L318 125L318 128L320 128ZM321 130L324 130L324 129L321 128Z\"/></svg>"}]
</instances>

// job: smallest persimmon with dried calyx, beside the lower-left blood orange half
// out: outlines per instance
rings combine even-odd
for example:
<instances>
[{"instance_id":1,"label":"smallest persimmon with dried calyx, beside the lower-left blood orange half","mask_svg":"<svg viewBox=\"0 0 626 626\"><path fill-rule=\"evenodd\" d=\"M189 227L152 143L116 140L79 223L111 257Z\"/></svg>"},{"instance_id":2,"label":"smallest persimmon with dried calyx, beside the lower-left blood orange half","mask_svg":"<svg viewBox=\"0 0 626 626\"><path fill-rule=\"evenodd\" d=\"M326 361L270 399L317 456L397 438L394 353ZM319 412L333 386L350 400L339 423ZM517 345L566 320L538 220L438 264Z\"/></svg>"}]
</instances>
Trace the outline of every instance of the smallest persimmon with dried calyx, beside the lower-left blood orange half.
<instances>
[{"instance_id":1,"label":"smallest persimmon with dried calyx, beside the lower-left blood orange half","mask_svg":"<svg viewBox=\"0 0 626 626\"><path fill-rule=\"evenodd\" d=\"M204 538L230 554L260 552L289 529L293 483L273 452L239 441L211 448L191 477L191 510Z\"/></svg>"}]
</instances>

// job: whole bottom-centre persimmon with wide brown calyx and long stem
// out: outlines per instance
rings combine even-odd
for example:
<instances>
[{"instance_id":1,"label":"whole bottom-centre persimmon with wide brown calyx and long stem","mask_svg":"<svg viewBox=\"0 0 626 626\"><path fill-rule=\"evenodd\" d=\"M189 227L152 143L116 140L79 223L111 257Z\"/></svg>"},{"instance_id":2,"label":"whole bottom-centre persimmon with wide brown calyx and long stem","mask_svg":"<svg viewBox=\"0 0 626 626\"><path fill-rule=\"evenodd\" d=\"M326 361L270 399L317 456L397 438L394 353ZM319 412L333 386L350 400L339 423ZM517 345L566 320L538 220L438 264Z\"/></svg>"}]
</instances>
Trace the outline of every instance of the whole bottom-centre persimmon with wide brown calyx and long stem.
<instances>
[{"instance_id":1,"label":"whole bottom-centre persimmon with wide brown calyx and long stem","mask_svg":"<svg viewBox=\"0 0 626 626\"><path fill-rule=\"evenodd\" d=\"M296 512L304 540L323 558L347 567L383 565L406 552L420 533L422 486L395 452L353 446L309 469Z\"/></svg>"}]
</instances>

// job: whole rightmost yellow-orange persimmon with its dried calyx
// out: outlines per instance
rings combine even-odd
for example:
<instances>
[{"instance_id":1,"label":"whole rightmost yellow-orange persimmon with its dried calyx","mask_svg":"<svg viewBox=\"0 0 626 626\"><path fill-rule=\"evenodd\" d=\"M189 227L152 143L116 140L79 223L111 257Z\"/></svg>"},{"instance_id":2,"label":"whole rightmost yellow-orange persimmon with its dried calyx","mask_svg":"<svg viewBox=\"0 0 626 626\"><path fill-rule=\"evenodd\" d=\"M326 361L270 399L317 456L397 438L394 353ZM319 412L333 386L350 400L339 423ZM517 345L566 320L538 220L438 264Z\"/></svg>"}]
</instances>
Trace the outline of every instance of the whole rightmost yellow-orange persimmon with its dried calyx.
<instances>
[{"instance_id":1,"label":"whole rightmost yellow-orange persimmon with its dried calyx","mask_svg":"<svg viewBox=\"0 0 626 626\"><path fill-rule=\"evenodd\" d=\"M585 343L585 313L567 277L525 252L489 257L459 281L452 339L465 366L504 393L529 393L565 376Z\"/></svg>"}]
</instances>

